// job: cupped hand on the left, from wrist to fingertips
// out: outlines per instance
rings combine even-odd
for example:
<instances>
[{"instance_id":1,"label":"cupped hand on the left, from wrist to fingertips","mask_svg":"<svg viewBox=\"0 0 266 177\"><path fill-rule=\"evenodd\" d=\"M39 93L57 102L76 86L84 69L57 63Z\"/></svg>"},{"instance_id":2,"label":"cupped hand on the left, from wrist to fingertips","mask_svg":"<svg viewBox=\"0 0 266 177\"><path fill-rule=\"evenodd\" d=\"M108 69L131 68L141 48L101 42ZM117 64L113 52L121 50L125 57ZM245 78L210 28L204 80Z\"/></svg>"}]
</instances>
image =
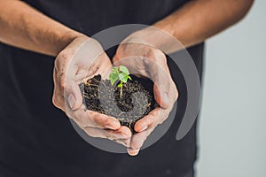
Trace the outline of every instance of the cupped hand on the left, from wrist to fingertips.
<instances>
[{"instance_id":1,"label":"cupped hand on the left, from wrist to fingertips","mask_svg":"<svg viewBox=\"0 0 266 177\"><path fill-rule=\"evenodd\" d=\"M79 36L59 53L54 64L53 104L74 119L88 135L108 138L129 147L131 131L128 127L121 126L113 117L89 111L82 104L78 84L112 68L101 45L92 38Z\"/></svg>"}]
</instances>

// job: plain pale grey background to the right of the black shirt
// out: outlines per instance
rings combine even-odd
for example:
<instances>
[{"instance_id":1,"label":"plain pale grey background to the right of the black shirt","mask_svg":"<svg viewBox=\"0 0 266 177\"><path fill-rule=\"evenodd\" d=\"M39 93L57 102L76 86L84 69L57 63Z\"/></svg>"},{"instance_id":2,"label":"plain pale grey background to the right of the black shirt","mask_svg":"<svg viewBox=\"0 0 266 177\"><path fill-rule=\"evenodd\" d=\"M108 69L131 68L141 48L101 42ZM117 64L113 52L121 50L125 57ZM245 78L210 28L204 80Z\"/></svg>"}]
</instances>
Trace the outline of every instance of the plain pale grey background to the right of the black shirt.
<instances>
[{"instance_id":1,"label":"plain pale grey background to the right of the black shirt","mask_svg":"<svg viewBox=\"0 0 266 177\"><path fill-rule=\"evenodd\" d=\"M207 41L198 177L266 176L265 9Z\"/></svg>"}]
</instances>

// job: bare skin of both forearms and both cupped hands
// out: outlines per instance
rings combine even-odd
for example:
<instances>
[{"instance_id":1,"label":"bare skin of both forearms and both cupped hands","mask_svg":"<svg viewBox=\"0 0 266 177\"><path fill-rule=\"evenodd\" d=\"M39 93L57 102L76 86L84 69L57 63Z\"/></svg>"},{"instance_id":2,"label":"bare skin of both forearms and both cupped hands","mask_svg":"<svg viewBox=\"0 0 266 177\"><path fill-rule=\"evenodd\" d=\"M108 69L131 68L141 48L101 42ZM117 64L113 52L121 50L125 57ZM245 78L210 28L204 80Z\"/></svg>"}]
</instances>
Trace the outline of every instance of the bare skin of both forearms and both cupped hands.
<instances>
[{"instance_id":1,"label":"bare skin of both forearms and both cupped hands","mask_svg":"<svg viewBox=\"0 0 266 177\"><path fill-rule=\"evenodd\" d=\"M126 42L141 41L148 45L122 43L113 58L114 65L123 63L122 58L125 57L131 58L131 61L136 59L134 55L145 58L143 65L137 67L141 74L148 75L154 80L154 96L160 104L160 107L137 122L135 129L138 133L132 137L129 128L121 127L116 119L97 112L85 112L82 107L77 83L82 81L82 77L90 78L96 73L103 73L111 65L110 59L98 42L44 16L18 0L0 0L0 42L57 57L54 68L53 104L74 119L88 135L120 142L128 147L129 155L134 156L154 127L167 119L168 112L178 96L164 56L164 53L178 50L178 46L173 49L172 42L167 36L175 36L184 47L203 42L242 19L253 2L253 0L190 1L178 11L153 24L153 27L147 27L125 39ZM161 31L168 35L160 35ZM95 53L89 57L82 55L82 58L77 59L74 56L80 48ZM82 67L85 60L88 61L85 63L87 68ZM150 65L151 63L160 67ZM71 65L74 67L73 71L66 73L66 69ZM127 65L131 70L136 67L133 66L133 62ZM165 82L162 84L161 81Z\"/></svg>"}]
</instances>

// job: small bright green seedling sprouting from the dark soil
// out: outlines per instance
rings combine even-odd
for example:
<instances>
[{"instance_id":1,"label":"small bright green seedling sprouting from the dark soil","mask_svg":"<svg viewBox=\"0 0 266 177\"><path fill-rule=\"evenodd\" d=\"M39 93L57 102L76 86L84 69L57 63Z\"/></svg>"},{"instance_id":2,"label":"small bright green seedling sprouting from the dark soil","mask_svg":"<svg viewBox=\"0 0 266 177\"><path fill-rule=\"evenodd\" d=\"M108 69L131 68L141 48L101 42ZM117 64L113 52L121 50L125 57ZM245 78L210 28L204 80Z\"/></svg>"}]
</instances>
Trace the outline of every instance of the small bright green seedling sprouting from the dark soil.
<instances>
[{"instance_id":1,"label":"small bright green seedling sprouting from the dark soil","mask_svg":"<svg viewBox=\"0 0 266 177\"><path fill-rule=\"evenodd\" d=\"M111 84L113 85L115 81L120 81L120 83L117 85L118 88L120 88L120 96L122 94L122 87L123 83L127 83L128 80L132 80L129 76L129 70L126 66L120 65L119 67L113 67L112 73L109 75L109 79L111 81Z\"/></svg>"}]
</instances>

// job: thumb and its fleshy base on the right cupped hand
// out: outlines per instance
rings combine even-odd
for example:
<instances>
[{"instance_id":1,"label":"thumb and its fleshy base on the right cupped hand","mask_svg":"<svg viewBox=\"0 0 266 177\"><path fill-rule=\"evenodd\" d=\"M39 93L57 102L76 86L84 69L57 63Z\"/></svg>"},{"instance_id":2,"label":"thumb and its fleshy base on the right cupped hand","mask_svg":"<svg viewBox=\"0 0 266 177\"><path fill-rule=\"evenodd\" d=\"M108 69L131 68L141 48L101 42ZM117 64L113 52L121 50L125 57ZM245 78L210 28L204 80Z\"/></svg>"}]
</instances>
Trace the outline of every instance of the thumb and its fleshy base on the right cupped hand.
<instances>
[{"instance_id":1,"label":"thumb and its fleshy base on the right cupped hand","mask_svg":"<svg viewBox=\"0 0 266 177\"><path fill-rule=\"evenodd\" d=\"M168 108L172 79L167 58L162 51L136 43L122 44L113 57L113 65L125 65L130 73L138 73L152 79L156 102L160 107Z\"/></svg>"}]
</instances>

